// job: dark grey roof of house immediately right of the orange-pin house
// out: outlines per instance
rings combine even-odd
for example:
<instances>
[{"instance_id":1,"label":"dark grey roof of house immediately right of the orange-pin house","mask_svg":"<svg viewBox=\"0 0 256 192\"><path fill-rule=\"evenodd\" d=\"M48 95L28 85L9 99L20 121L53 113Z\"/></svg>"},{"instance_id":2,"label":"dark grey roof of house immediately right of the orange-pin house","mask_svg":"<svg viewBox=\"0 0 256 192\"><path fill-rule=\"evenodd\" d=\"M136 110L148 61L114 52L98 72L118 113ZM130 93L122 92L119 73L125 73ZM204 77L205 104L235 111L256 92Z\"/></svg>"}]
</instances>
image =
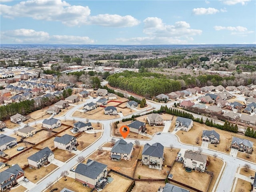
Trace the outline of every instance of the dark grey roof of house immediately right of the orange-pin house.
<instances>
[{"instance_id":1,"label":"dark grey roof of house immediately right of the orange-pin house","mask_svg":"<svg viewBox=\"0 0 256 192\"><path fill-rule=\"evenodd\" d=\"M160 143L154 143L152 145L146 143L144 145L142 155L149 155L152 157L160 157L162 158L164 154L164 146Z\"/></svg>"}]
</instances>

